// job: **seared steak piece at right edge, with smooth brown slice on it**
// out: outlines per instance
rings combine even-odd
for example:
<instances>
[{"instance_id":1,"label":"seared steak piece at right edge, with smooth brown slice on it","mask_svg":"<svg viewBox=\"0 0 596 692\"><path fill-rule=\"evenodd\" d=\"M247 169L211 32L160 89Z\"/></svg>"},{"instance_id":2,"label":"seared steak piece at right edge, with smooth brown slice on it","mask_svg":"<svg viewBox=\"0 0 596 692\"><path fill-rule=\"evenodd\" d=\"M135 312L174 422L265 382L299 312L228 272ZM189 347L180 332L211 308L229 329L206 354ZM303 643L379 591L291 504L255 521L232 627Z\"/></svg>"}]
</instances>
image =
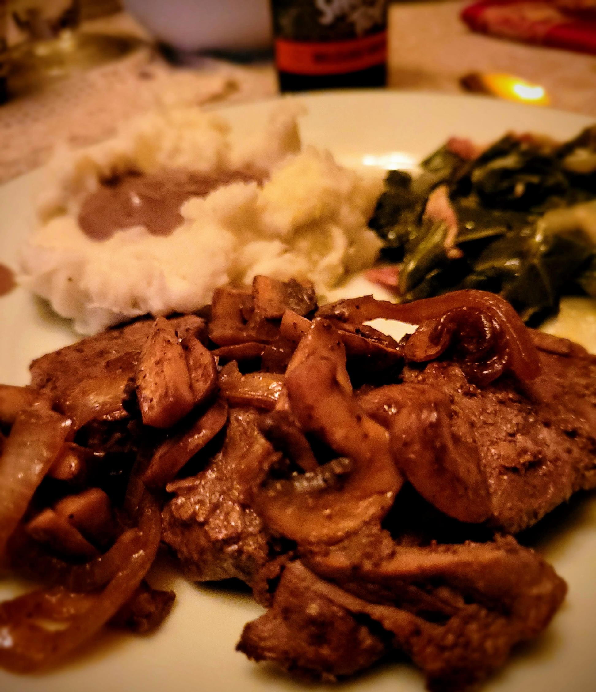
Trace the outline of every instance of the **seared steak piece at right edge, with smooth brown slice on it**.
<instances>
[{"instance_id":1,"label":"seared steak piece at right edge, with smooth brown slice on it","mask_svg":"<svg viewBox=\"0 0 596 692\"><path fill-rule=\"evenodd\" d=\"M479 388L455 363L435 361L424 370L406 367L403 385L360 399L392 431L396 462L410 482L450 516L486 518L515 534L596 486L596 356L555 337L536 345L541 375L534 381L505 375ZM439 429L441 417L448 424ZM412 459L402 465L408 450Z\"/></svg>"}]
</instances>

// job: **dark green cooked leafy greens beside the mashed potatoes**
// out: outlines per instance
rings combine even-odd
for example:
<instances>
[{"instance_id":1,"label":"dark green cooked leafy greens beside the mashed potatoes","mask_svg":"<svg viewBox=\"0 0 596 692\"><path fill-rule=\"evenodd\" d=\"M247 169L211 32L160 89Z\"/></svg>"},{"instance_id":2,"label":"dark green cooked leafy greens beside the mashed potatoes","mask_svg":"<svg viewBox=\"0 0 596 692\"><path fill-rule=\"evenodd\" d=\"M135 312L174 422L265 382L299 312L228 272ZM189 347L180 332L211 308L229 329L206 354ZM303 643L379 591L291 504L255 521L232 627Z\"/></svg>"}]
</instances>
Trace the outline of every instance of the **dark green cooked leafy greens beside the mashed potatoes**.
<instances>
[{"instance_id":1,"label":"dark green cooked leafy greens beside the mashed potatoes","mask_svg":"<svg viewBox=\"0 0 596 692\"><path fill-rule=\"evenodd\" d=\"M387 175L369 225L385 259L401 263L401 300L484 289L536 324L565 293L596 296L596 203L585 204L596 199L596 126L563 145L507 134L473 160L461 151L450 140L420 176ZM455 251L448 222L425 214L439 185L457 218Z\"/></svg>"}]
</instances>

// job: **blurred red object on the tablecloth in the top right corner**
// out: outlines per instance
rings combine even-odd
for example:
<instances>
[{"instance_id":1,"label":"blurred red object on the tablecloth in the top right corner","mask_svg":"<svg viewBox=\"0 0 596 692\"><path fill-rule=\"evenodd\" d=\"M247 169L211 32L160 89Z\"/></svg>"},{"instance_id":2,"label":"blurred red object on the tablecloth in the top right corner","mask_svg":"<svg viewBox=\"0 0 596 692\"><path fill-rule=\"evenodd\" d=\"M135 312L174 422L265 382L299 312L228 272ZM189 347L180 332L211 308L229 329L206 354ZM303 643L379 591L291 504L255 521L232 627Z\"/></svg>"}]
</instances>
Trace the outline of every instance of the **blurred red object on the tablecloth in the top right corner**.
<instances>
[{"instance_id":1,"label":"blurred red object on the tablecloth in the top right corner","mask_svg":"<svg viewBox=\"0 0 596 692\"><path fill-rule=\"evenodd\" d=\"M462 19L480 33L596 55L596 3L488 0L462 12Z\"/></svg>"}]
</instances>

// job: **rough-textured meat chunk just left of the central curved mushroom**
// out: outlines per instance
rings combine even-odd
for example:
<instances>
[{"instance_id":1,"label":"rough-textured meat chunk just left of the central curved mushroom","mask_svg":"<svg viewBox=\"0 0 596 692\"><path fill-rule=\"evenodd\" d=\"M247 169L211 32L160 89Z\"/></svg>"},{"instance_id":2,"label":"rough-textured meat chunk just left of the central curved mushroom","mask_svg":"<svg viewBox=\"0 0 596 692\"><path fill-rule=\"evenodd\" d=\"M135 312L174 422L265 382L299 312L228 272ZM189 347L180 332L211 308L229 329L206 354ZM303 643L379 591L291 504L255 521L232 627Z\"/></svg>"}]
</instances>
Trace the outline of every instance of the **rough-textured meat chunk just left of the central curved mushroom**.
<instances>
[{"instance_id":1,"label":"rough-textured meat chunk just left of the central curved mushroom","mask_svg":"<svg viewBox=\"0 0 596 692\"><path fill-rule=\"evenodd\" d=\"M164 509L163 540L189 579L238 577L252 583L270 559L270 540L250 507L250 489L279 459L250 409L230 412L224 446L204 471L171 483L176 497Z\"/></svg>"}]
</instances>

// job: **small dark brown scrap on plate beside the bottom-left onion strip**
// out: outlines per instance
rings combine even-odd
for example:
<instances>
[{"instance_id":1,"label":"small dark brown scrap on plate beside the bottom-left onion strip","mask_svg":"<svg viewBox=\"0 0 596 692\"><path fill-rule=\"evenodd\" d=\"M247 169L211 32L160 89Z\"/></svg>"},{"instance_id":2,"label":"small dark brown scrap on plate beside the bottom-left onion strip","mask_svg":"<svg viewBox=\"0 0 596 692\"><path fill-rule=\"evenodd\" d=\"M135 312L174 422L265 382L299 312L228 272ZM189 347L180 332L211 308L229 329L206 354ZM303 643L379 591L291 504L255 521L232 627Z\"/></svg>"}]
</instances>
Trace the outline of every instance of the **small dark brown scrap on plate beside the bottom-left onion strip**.
<instances>
[{"instance_id":1,"label":"small dark brown scrap on plate beside the bottom-left onion strip","mask_svg":"<svg viewBox=\"0 0 596 692\"><path fill-rule=\"evenodd\" d=\"M152 632L168 617L176 594L152 589L143 579L130 599L109 621L109 626L131 630L139 635Z\"/></svg>"}]
</instances>

